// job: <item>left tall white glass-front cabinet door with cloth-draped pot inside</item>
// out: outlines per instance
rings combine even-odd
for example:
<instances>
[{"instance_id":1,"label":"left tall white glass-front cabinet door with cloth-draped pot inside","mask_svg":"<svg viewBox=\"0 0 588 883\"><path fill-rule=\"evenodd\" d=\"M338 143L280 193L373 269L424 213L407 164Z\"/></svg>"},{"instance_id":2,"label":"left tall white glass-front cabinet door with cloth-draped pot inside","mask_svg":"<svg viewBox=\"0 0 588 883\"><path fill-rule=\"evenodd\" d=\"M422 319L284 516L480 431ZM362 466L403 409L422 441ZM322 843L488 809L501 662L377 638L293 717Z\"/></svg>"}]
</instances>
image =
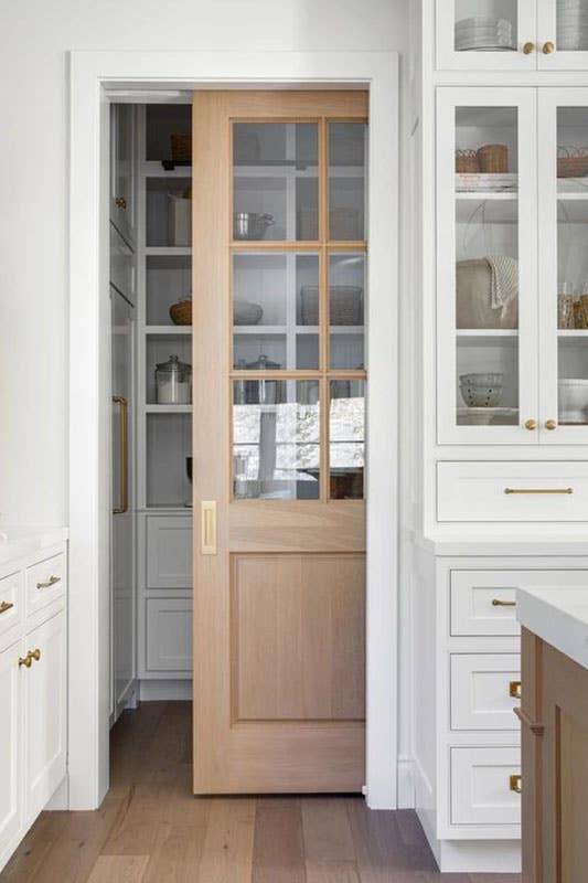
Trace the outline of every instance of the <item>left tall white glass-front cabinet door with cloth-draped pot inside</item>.
<instances>
[{"instance_id":1,"label":"left tall white glass-front cabinet door with cloth-draped pot inside","mask_svg":"<svg viewBox=\"0 0 588 883\"><path fill-rule=\"evenodd\" d=\"M538 439L535 117L533 89L439 91L440 444Z\"/></svg>"}]
</instances>

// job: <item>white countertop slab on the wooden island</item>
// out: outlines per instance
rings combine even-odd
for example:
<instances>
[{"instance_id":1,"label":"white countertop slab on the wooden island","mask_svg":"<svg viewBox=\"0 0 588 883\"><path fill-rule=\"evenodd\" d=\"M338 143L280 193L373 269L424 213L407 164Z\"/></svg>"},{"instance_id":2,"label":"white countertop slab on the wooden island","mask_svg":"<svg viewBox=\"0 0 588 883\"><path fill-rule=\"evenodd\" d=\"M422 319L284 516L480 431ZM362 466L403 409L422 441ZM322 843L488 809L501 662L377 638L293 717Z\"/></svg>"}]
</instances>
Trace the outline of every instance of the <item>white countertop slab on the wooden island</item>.
<instances>
[{"instance_id":1,"label":"white countertop slab on the wooden island","mask_svg":"<svg viewBox=\"0 0 588 883\"><path fill-rule=\"evenodd\" d=\"M588 575L586 586L576 588L517 588L516 618L588 669Z\"/></svg>"}]
</instances>

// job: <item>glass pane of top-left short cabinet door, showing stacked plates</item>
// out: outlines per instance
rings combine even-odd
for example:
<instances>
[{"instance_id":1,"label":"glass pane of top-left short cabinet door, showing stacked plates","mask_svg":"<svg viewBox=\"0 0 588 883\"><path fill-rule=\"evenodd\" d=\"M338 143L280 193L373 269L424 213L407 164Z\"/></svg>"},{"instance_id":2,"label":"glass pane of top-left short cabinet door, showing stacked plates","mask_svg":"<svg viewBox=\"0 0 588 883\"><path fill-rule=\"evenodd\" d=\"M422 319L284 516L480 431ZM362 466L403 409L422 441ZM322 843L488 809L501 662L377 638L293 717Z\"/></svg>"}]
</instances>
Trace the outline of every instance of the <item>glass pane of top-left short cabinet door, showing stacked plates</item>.
<instances>
[{"instance_id":1,"label":"glass pane of top-left short cabinet door, showing stacked plates","mask_svg":"<svg viewBox=\"0 0 588 883\"><path fill-rule=\"evenodd\" d=\"M456 0L456 52L514 52L517 0Z\"/></svg>"}]
</instances>

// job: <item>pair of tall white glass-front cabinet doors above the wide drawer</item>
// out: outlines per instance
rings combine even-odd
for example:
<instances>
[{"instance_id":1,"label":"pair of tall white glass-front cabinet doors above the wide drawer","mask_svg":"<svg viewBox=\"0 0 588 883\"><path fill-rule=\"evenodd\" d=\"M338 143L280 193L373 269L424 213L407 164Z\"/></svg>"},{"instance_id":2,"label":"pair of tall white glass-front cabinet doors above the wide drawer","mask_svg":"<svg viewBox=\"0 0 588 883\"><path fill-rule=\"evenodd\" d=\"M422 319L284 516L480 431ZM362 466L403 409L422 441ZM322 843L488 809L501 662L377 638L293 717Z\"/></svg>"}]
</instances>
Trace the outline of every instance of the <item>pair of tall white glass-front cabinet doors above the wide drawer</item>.
<instances>
[{"instance_id":1,"label":"pair of tall white glass-front cabinet doors above the wide drawer","mask_svg":"<svg viewBox=\"0 0 588 883\"><path fill-rule=\"evenodd\" d=\"M588 89L440 88L437 107L438 443L585 444ZM503 172L456 172L481 151Z\"/></svg>"}]
</instances>

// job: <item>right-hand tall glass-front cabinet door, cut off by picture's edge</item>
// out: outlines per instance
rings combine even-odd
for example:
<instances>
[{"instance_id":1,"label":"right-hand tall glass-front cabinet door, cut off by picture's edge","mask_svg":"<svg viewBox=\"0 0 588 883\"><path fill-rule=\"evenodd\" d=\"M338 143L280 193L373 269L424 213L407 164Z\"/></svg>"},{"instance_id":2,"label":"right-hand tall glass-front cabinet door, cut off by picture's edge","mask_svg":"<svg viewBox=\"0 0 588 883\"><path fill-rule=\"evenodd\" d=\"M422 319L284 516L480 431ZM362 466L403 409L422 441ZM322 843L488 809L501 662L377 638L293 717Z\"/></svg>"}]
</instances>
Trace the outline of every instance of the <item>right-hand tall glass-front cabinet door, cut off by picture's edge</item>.
<instances>
[{"instance_id":1,"label":"right-hand tall glass-front cabinet door, cut off by picture's edge","mask_svg":"<svg viewBox=\"0 0 588 883\"><path fill-rule=\"evenodd\" d=\"M588 89L539 89L542 442L588 440Z\"/></svg>"}]
</instances>

